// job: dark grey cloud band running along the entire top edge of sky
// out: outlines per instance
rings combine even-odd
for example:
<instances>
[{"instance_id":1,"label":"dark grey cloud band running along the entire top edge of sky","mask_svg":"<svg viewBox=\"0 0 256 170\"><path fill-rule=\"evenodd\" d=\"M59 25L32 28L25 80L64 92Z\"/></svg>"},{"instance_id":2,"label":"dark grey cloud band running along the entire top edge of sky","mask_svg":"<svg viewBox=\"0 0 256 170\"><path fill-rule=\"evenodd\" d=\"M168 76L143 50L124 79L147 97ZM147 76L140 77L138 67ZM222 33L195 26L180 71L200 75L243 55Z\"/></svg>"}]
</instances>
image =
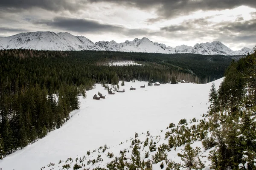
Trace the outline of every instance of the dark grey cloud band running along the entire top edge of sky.
<instances>
[{"instance_id":1,"label":"dark grey cloud band running along the entire top edge of sky","mask_svg":"<svg viewBox=\"0 0 256 170\"><path fill-rule=\"evenodd\" d=\"M242 5L256 8L256 0L0 0L0 8L22 10L37 7L50 11L77 11L86 9L84 5L98 2L114 3L116 6L131 6L145 10L155 9L159 18L148 20L148 22L187 15L198 10L232 9ZM115 5L113 5L114 7Z\"/></svg>"}]
</instances>

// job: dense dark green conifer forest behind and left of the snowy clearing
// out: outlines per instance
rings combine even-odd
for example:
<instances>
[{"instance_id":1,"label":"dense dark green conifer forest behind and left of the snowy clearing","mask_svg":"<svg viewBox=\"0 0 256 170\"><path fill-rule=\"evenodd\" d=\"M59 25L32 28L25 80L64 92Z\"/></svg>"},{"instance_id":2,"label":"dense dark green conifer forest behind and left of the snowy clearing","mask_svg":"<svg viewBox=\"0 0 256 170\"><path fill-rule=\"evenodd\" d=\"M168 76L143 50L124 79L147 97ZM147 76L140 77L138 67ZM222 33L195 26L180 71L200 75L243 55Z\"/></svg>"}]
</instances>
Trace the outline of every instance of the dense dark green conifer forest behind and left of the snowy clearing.
<instances>
[{"instance_id":1,"label":"dense dark green conifer forest behind and left of the snowy clearing","mask_svg":"<svg viewBox=\"0 0 256 170\"><path fill-rule=\"evenodd\" d=\"M207 83L224 75L237 57L198 54L146 54L113 51L34 51L0 50L0 157L25 147L61 127L69 113L79 109L79 96L95 83L117 84L119 80L158 81L175 79ZM143 66L109 66L108 62L133 60ZM247 58L231 63L226 77L238 75L247 68ZM244 62L243 62L244 61ZM254 61L254 60L253 60ZM233 67L232 67L233 66ZM227 79L227 80L226 80ZM226 78L220 89L218 109L231 101L232 114L243 90L229 91L232 85L241 89L241 79ZM227 86L224 86L227 85ZM253 84L252 88L255 87ZM232 86L233 87L233 86ZM230 93L233 96L230 97ZM220 95L221 96L221 95ZM253 103L248 103L253 105Z\"/></svg>"}]
</instances>

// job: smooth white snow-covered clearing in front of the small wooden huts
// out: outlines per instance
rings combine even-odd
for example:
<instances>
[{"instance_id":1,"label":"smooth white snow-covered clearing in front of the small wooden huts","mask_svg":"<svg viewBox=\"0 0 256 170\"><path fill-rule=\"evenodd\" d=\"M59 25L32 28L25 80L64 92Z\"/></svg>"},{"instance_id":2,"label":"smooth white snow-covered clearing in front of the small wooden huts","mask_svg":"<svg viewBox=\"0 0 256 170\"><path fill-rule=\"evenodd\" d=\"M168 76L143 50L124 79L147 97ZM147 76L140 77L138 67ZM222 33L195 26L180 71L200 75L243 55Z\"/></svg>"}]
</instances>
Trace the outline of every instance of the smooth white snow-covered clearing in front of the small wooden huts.
<instances>
[{"instance_id":1,"label":"smooth white snow-covered clearing in front of the small wooden huts","mask_svg":"<svg viewBox=\"0 0 256 170\"><path fill-rule=\"evenodd\" d=\"M215 81L216 87L221 81ZM96 85L87 92L86 99L81 98L81 108L73 111L70 120L61 128L0 160L0 167L3 170L36 170L60 159L82 157L87 150L105 144L118 146L134 138L135 132L145 134L149 130L153 135L158 134L171 122L177 125L183 118L199 119L207 112L212 83L140 88L144 84L147 82L125 82L125 86L120 87L125 88L125 93L115 95L108 95L101 85ZM136 90L130 91L131 86ZM93 100L98 91L106 95L106 99Z\"/></svg>"}]
</instances>

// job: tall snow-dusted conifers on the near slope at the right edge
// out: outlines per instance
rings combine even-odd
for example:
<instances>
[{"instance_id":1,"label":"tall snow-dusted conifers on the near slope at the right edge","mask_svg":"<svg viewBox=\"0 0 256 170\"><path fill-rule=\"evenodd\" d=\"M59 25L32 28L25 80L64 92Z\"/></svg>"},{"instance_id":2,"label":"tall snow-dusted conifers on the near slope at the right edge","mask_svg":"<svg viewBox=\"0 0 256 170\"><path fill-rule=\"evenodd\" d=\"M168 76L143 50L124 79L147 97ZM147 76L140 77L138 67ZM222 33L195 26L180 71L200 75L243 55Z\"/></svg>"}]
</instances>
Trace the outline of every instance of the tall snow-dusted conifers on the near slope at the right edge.
<instances>
[{"instance_id":1,"label":"tall snow-dusted conifers on the near slope at the right edge","mask_svg":"<svg viewBox=\"0 0 256 170\"><path fill-rule=\"evenodd\" d=\"M209 102L207 143L217 147L210 152L215 170L256 169L256 46L254 54L233 61L218 91L212 85Z\"/></svg>"}]
</instances>

